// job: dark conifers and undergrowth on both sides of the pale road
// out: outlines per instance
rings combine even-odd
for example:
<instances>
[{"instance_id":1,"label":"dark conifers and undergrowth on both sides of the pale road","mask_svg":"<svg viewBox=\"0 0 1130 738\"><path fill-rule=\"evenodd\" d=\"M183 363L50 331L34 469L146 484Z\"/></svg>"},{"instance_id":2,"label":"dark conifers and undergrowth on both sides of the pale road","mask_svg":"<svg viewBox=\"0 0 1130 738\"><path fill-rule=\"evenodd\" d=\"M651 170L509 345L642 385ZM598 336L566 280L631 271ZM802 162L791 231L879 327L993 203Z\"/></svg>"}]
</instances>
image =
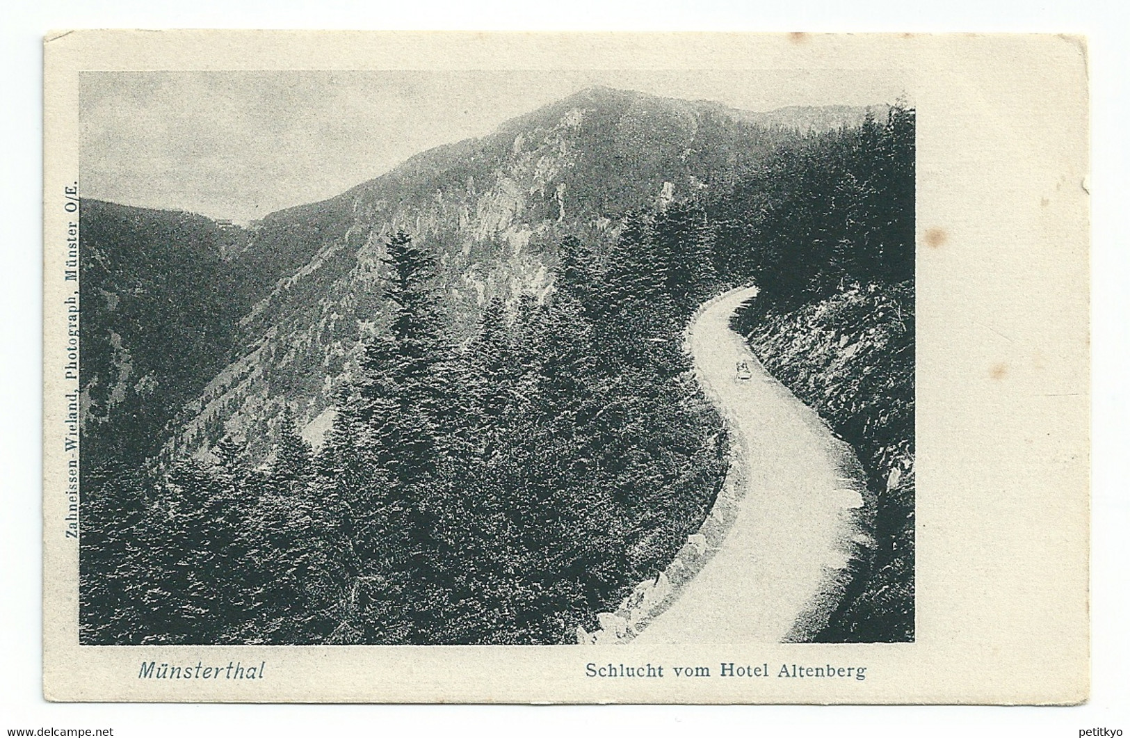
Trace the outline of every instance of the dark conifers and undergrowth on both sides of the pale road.
<instances>
[{"instance_id":1,"label":"dark conifers and undergrowth on both sides of the pale road","mask_svg":"<svg viewBox=\"0 0 1130 738\"><path fill-rule=\"evenodd\" d=\"M823 637L910 637L913 131L896 106L782 136L711 197L624 216L608 248L562 238L553 293L492 299L469 338L435 250L393 234L389 328L316 453L289 415L266 463L232 439L150 471L84 446L82 642L571 642L713 504L724 431L681 336L750 280L739 327L880 495L876 572Z\"/></svg>"}]
</instances>

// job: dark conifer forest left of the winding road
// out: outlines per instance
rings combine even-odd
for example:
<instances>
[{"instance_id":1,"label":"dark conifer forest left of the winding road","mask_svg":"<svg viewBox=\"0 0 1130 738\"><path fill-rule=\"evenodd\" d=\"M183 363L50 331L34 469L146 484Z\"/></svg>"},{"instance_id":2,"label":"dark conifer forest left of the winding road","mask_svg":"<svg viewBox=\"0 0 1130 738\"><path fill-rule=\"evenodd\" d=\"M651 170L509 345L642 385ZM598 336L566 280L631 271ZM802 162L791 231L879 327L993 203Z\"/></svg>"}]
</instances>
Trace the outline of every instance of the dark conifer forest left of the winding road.
<instances>
[{"instance_id":1,"label":"dark conifer forest left of the winding road","mask_svg":"<svg viewBox=\"0 0 1130 738\"><path fill-rule=\"evenodd\" d=\"M676 281L685 235L681 215L629 227L618 249L646 254L642 270L563 243L554 298L493 301L459 349L434 257L394 234L390 331L316 454L286 417L267 469L227 441L215 462L92 486L84 642L560 643L593 628L667 565L724 476L720 420L680 349L713 286Z\"/></svg>"}]
</instances>

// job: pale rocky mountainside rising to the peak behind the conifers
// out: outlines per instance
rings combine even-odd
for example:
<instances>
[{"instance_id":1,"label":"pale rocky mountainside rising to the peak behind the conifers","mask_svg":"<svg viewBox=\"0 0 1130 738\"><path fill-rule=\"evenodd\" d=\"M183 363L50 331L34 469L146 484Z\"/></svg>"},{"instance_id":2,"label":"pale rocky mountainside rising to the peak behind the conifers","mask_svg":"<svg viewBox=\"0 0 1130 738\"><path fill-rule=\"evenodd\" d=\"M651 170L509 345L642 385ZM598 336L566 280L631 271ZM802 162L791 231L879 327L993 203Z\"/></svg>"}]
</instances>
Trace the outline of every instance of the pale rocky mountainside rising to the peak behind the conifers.
<instances>
[{"instance_id":1,"label":"pale rocky mountainside rising to the peak behind the conifers","mask_svg":"<svg viewBox=\"0 0 1130 738\"><path fill-rule=\"evenodd\" d=\"M779 118L592 88L252 224L215 250L243 276L231 295L240 318L231 336L202 345L208 361L194 359L207 372L202 389L174 398L184 403L165 426L160 455L202 454L231 434L262 457L287 406L316 441L365 337L384 327L389 234L405 231L434 249L453 340L461 340L490 298L540 298L551 288L564 236L603 250L627 211L725 191L796 130L827 124L828 114ZM103 353L130 349L125 339ZM112 373L104 370L99 377Z\"/></svg>"}]
</instances>

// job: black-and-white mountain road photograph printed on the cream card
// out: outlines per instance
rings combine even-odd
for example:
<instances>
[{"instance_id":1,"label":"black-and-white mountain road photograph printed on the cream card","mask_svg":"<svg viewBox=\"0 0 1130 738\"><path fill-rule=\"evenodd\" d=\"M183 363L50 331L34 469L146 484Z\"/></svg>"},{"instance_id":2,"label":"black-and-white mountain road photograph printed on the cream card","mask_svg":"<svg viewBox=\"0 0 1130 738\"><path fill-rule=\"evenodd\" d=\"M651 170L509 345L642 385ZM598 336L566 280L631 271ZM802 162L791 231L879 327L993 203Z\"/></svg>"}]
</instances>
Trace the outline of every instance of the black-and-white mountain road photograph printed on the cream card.
<instances>
[{"instance_id":1,"label":"black-and-white mountain road photograph printed on the cream card","mask_svg":"<svg viewBox=\"0 0 1130 738\"><path fill-rule=\"evenodd\" d=\"M896 71L79 85L80 643L914 640Z\"/></svg>"}]
</instances>

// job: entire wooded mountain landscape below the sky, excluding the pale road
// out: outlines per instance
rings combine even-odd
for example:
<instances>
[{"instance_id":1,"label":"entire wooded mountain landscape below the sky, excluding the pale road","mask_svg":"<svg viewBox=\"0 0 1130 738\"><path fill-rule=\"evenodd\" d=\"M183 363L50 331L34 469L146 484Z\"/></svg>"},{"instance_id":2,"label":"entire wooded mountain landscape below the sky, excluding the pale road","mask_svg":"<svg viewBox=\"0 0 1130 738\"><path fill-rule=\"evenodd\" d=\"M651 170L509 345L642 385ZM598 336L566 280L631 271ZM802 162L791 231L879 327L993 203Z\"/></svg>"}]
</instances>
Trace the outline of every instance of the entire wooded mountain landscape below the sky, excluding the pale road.
<instances>
[{"instance_id":1,"label":"entire wooded mountain landscape below the sky, excluding the pale road","mask_svg":"<svg viewBox=\"0 0 1130 738\"><path fill-rule=\"evenodd\" d=\"M184 379L159 414L130 380L148 435L115 442L145 459L84 436L84 643L571 642L710 511L728 445L683 331L749 281L766 365L898 490L827 637L913 624L913 111L801 136L588 90L228 242L127 215L84 234L128 252L84 271L84 362L116 357L85 413L114 335ZM169 327L115 328L142 318L102 292Z\"/></svg>"}]
</instances>

